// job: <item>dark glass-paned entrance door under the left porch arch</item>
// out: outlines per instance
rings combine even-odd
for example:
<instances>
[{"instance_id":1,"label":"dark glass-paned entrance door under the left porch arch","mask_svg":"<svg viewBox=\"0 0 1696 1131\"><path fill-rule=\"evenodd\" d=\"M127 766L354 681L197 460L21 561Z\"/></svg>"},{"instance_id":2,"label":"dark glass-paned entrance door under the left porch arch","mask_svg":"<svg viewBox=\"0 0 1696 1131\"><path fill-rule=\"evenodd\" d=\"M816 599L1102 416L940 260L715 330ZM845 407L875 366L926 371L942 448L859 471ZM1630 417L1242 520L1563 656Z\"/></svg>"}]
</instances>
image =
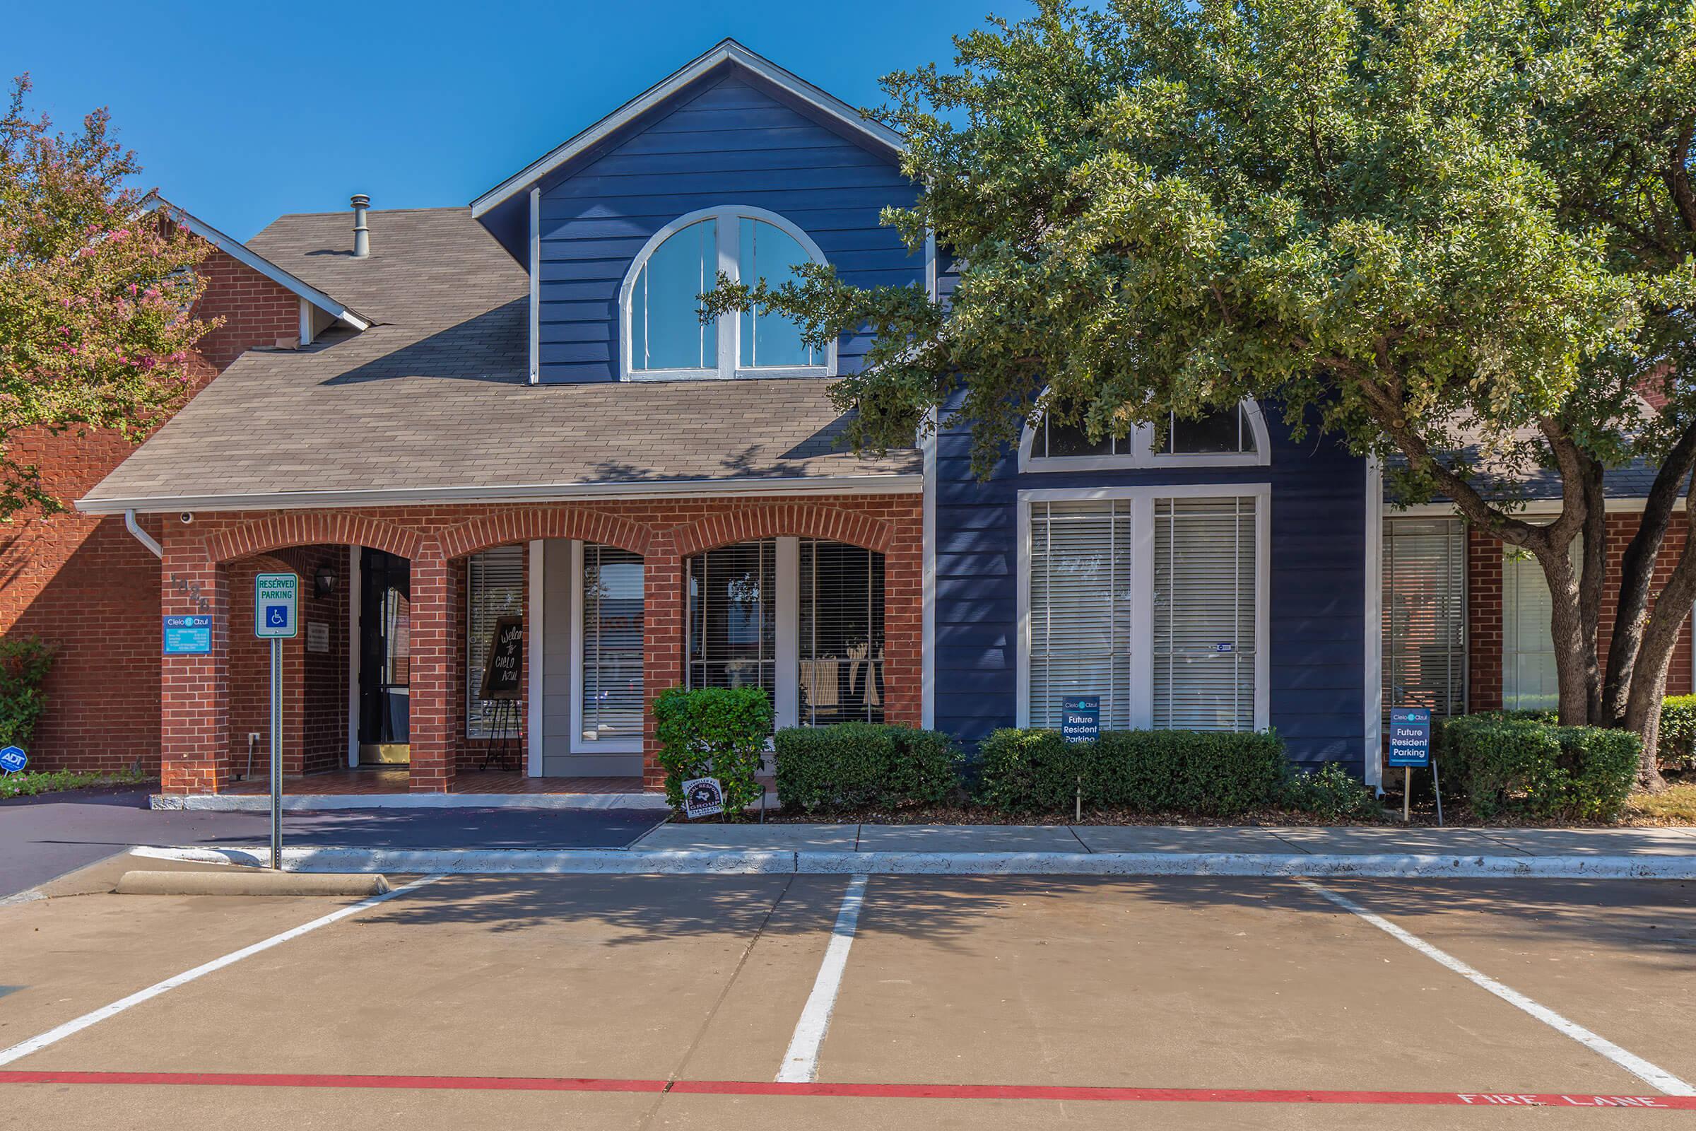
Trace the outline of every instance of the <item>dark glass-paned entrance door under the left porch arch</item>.
<instances>
[{"instance_id":1,"label":"dark glass-paned entrance door under the left porch arch","mask_svg":"<svg viewBox=\"0 0 1696 1131\"><path fill-rule=\"evenodd\" d=\"M360 558L360 765L405 765L412 680L412 563Z\"/></svg>"}]
</instances>

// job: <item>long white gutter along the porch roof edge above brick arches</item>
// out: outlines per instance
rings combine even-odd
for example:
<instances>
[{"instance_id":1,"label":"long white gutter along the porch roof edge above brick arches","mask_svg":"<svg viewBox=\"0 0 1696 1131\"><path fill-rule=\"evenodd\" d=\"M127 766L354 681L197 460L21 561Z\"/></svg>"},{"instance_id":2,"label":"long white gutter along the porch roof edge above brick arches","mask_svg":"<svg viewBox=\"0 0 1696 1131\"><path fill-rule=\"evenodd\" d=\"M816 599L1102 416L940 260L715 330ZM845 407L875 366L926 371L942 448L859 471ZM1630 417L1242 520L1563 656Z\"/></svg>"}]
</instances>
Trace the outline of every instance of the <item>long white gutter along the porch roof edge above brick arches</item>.
<instances>
[{"instance_id":1,"label":"long white gutter along the porch roof edge above brick arches","mask_svg":"<svg viewBox=\"0 0 1696 1131\"><path fill-rule=\"evenodd\" d=\"M665 480L639 483L514 483L502 487L417 487L400 490L266 492L253 495L154 495L78 499L81 514L170 510L302 510L327 507L421 507L431 504L587 502L607 499L712 499L724 495L918 495L923 473L817 475L770 480ZM127 522L126 522L127 524ZM146 531L131 527L137 538ZM151 541L151 539L149 539ZM153 543L158 544L158 543ZM154 551L159 553L159 551Z\"/></svg>"}]
</instances>

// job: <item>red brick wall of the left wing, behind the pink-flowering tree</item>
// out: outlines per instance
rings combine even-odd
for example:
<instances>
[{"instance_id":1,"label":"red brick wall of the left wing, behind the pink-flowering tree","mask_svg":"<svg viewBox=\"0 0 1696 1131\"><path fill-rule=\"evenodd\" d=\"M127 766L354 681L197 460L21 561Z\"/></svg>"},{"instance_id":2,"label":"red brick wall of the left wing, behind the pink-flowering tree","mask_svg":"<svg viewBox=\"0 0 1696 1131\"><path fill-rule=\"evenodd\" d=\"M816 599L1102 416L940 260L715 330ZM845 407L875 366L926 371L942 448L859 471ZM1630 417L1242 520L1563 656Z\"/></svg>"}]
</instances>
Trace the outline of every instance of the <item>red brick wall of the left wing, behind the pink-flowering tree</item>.
<instances>
[{"instance_id":1,"label":"red brick wall of the left wing, behind the pink-flowering tree","mask_svg":"<svg viewBox=\"0 0 1696 1131\"><path fill-rule=\"evenodd\" d=\"M243 349L298 332L295 295L220 251L202 263L197 315L226 324L200 343L190 395ZM10 437L66 507L134 448L105 431ZM175 522L175 517L170 519ZM165 519L142 519L156 538ZM0 634L56 649L31 761L44 770L159 765L159 560L119 517L25 512L0 534Z\"/></svg>"}]
</instances>

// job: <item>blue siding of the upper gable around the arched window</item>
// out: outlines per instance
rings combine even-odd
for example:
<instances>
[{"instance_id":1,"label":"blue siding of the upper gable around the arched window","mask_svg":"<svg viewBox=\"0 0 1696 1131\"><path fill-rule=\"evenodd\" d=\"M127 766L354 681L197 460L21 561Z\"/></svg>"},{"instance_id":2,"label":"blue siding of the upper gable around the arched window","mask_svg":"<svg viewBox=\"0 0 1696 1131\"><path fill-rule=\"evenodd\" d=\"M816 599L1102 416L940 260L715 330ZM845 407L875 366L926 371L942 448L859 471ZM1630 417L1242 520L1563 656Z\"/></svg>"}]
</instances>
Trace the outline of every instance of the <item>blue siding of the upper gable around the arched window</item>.
<instances>
[{"instance_id":1,"label":"blue siding of the upper gable around the arched window","mask_svg":"<svg viewBox=\"0 0 1696 1131\"><path fill-rule=\"evenodd\" d=\"M924 280L923 254L879 224L884 207L916 198L894 161L756 81L739 70L707 76L543 185L543 382L617 380L624 275L648 237L697 209L770 209L856 287ZM868 344L843 337L840 370L858 368Z\"/></svg>"}]
</instances>

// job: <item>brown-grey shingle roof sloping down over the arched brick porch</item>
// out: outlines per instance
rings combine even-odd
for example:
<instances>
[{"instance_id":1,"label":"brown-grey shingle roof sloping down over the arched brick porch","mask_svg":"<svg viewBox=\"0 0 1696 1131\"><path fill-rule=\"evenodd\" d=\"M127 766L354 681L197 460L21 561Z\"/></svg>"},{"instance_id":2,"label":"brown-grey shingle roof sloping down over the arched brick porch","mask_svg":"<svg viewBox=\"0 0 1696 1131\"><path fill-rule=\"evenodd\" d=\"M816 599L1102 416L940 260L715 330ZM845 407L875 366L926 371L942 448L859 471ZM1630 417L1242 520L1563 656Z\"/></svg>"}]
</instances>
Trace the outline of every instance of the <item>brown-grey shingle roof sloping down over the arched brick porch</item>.
<instances>
[{"instance_id":1,"label":"brown-grey shingle roof sloping down over the arched brick porch","mask_svg":"<svg viewBox=\"0 0 1696 1131\"><path fill-rule=\"evenodd\" d=\"M529 278L470 212L368 224L366 259L344 212L285 215L248 246L377 326L243 354L85 509L919 471L916 449L841 451L824 380L529 385Z\"/></svg>"}]
</instances>

